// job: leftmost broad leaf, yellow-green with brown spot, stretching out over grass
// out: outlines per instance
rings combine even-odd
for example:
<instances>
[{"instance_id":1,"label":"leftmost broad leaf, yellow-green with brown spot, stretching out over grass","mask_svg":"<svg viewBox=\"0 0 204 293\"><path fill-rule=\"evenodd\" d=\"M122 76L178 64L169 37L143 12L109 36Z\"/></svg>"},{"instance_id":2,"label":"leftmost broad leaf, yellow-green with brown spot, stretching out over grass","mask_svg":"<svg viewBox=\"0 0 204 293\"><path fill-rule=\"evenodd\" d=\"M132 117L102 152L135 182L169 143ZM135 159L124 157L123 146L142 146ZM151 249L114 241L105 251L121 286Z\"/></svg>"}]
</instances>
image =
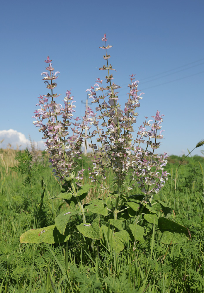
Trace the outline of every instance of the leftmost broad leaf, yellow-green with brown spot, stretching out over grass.
<instances>
[{"instance_id":1,"label":"leftmost broad leaf, yellow-green with brown spot, stretching out over grass","mask_svg":"<svg viewBox=\"0 0 204 293\"><path fill-rule=\"evenodd\" d=\"M65 229L64 235L60 234L55 225L40 229L30 229L20 237L21 243L62 243L69 239L70 230Z\"/></svg>"}]
</instances>

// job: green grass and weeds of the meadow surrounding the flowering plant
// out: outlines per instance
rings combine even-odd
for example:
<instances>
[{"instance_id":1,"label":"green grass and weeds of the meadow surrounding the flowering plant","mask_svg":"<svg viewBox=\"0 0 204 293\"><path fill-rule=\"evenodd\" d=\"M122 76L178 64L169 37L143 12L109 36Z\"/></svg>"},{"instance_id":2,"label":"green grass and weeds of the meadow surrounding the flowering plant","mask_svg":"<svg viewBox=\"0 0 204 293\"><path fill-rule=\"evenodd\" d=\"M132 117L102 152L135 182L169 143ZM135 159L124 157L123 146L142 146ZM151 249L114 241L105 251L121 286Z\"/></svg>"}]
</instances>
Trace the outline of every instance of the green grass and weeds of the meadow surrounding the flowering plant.
<instances>
[{"instance_id":1,"label":"green grass and weeds of the meadow surrounding the flowering plant","mask_svg":"<svg viewBox=\"0 0 204 293\"><path fill-rule=\"evenodd\" d=\"M157 226L152 229L146 224L151 232L144 241L134 245L129 241L124 251L115 254L101 245L92 249L91 242L75 228L79 216L69 223L72 236L67 243L20 243L21 234L28 229L54 224L65 203L48 200L61 187L46 159L46 168L36 174L31 199L22 184L25 178L9 168L16 164L15 152L0 150L0 155L0 292L203 292L203 158L188 158L181 165L175 191L176 169L182 158L172 156L166 168L171 173L169 180L155 197L174 209L175 221L190 230L191 240L163 244ZM88 164L83 159L83 166ZM95 189L88 200L100 196L106 194Z\"/></svg>"}]
</instances>

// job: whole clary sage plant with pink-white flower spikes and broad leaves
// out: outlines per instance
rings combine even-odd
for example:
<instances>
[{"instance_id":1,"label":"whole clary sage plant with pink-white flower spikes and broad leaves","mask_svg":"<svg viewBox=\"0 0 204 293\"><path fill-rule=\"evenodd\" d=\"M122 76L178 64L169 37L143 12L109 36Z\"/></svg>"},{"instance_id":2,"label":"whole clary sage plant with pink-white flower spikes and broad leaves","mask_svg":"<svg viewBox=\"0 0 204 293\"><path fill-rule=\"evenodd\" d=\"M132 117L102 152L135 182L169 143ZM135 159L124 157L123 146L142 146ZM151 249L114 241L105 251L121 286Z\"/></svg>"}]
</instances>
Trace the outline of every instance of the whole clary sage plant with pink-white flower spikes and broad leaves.
<instances>
[{"instance_id":1,"label":"whole clary sage plant with pink-white flower spikes and broad leaves","mask_svg":"<svg viewBox=\"0 0 204 293\"><path fill-rule=\"evenodd\" d=\"M63 101L54 93L60 72L54 73L49 56L45 60L47 67L42 76L50 93L39 97L33 123L43 134L54 175L63 183L61 193L55 197L64 199L68 205L67 211L55 218L54 225L27 231L21 236L21 242L67 241L71 234L70 217L76 214L81 215L81 223L77 223L81 234L116 251L123 250L129 240L141 241L145 222L158 224L162 232L168 225L172 230L173 222L167 219L171 209L155 200L166 216L158 218L159 209L151 205L154 194L159 193L169 175L164 171L167 154L157 154L163 139L161 123L164 115L157 111L152 119L145 117L143 125L135 130L137 110L144 93L140 93L139 81L135 81L135 74L131 74L125 107L121 107L120 86L113 82L115 69L109 63L107 52L112 46L107 45L106 34L102 42L104 45L100 48L105 52L105 65L99 70L106 71L105 80L96 78L95 84L86 90L93 108L86 107L82 119L75 115L76 101L70 91L66 91ZM92 184L84 185L84 169L75 174L75 168L85 140L89 141L92 150L89 153ZM107 178L110 171L114 174L111 186ZM107 198L94 199L83 205L82 200L86 202L87 193L96 185L106 190ZM134 194L133 190L138 189L140 194ZM91 223L86 221L87 213L95 215ZM183 227L182 233L188 235L188 229Z\"/></svg>"}]
</instances>

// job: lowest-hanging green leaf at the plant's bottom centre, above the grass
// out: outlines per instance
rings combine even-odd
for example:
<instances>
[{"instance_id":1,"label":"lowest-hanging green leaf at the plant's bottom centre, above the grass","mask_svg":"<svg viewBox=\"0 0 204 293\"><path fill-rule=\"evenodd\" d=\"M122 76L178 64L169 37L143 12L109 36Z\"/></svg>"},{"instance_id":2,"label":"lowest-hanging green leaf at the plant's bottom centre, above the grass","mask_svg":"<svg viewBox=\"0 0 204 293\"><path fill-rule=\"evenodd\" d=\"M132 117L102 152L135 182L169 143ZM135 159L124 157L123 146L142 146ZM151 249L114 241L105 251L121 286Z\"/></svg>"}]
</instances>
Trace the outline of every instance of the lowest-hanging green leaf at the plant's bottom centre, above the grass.
<instances>
[{"instance_id":1,"label":"lowest-hanging green leaf at the plant's bottom centre, above the grass","mask_svg":"<svg viewBox=\"0 0 204 293\"><path fill-rule=\"evenodd\" d=\"M103 238L100 242L103 246L107 247L110 252L115 251L116 253L119 253L125 248L120 237L115 237L115 234L119 232L113 233L113 231L107 226L101 226L101 231Z\"/></svg>"}]
</instances>

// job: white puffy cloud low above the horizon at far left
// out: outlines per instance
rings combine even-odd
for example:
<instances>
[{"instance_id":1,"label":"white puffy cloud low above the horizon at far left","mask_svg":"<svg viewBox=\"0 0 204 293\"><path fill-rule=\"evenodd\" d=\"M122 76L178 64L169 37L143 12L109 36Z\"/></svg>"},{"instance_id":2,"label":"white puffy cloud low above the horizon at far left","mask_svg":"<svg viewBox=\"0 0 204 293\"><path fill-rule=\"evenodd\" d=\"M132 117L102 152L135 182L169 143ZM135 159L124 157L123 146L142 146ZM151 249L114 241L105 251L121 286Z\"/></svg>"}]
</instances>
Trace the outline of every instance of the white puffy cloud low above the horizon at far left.
<instances>
[{"instance_id":1,"label":"white puffy cloud low above the horizon at far left","mask_svg":"<svg viewBox=\"0 0 204 293\"><path fill-rule=\"evenodd\" d=\"M0 148L3 149L6 149L8 145L11 145L13 149L25 149L27 146L30 148L30 140L26 138L25 134L13 129L0 130L0 142ZM38 145L38 148L44 149L42 141L35 142L35 144Z\"/></svg>"}]
</instances>

